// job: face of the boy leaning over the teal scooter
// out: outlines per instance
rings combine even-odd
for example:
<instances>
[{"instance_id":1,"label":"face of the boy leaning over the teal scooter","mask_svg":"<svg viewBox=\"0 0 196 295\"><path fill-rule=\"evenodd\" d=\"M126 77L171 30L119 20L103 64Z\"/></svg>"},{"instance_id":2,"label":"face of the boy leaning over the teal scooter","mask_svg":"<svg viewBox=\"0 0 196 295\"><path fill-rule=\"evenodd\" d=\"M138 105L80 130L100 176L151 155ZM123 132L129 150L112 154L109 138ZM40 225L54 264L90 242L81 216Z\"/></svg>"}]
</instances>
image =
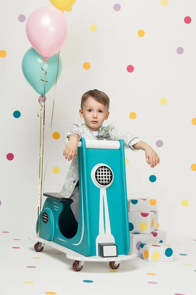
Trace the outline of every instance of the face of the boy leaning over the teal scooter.
<instances>
[{"instance_id":1,"label":"face of the boy leaning over the teal scooter","mask_svg":"<svg viewBox=\"0 0 196 295\"><path fill-rule=\"evenodd\" d=\"M97 102L93 97L89 97L83 108L79 110L80 117L84 118L86 125L91 131L98 131L103 121L109 117L107 108Z\"/></svg>"}]
</instances>

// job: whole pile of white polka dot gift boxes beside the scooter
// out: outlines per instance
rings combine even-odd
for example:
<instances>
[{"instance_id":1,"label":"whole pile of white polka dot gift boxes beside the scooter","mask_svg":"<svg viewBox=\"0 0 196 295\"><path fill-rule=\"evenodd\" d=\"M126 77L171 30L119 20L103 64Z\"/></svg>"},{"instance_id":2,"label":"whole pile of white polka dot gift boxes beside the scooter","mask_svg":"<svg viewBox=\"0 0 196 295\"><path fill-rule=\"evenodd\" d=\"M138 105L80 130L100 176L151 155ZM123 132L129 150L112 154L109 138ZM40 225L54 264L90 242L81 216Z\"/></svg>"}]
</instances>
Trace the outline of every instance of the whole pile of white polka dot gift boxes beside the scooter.
<instances>
[{"instance_id":1,"label":"whole pile of white polka dot gift boxes beside the scooter","mask_svg":"<svg viewBox=\"0 0 196 295\"><path fill-rule=\"evenodd\" d=\"M153 251L159 248L166 254L171 254L172 246L165 245L166 232L158 230L157 201L153 199L129 199L129 228L130 228L130 254L136 254L144 260L150 261ZM156 245L156 246L155 246ZM162 247L163 246L163 247ZM165 247L165 248L164 248ZM147 250L148 248L148 250ZM169 252L170 251L170 252ZM149 256L149 253L152 255ZM157 254L158 251L156 251ZM173 253L167 259L163 255L156 254L153 257L161 257L161 261L172 261ZM165 257L166 257L165 254ZM148 256L148 257L147 257ZM159 259L157 259L159 260ZM154 259L154 261L156 261Z\"/></svg>"}]
</instances>

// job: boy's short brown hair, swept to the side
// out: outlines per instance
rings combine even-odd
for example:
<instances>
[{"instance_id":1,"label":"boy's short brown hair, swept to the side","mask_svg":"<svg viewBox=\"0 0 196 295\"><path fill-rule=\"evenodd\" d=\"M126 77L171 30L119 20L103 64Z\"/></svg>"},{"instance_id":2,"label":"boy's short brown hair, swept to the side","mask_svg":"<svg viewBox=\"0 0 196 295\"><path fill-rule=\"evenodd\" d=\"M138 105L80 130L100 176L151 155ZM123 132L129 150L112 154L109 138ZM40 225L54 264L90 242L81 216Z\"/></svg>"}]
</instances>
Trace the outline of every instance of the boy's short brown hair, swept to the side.
<instances>
[{"instance_id":1,"label":"boy's short brown hair, swept to the side","mask_svg":"<svg viewBox=\"0 0 196 295\"><path fill-rule=\"evenodd\" d=\"M109 110L109 97L107 96L107 94L99 91L98 89L89 90L82 95L81 109L83 108L85 101L87 101L89 97L93 97L97 102L104 105L107 108L107 111Z\"/></svg>"}]
</instances>

